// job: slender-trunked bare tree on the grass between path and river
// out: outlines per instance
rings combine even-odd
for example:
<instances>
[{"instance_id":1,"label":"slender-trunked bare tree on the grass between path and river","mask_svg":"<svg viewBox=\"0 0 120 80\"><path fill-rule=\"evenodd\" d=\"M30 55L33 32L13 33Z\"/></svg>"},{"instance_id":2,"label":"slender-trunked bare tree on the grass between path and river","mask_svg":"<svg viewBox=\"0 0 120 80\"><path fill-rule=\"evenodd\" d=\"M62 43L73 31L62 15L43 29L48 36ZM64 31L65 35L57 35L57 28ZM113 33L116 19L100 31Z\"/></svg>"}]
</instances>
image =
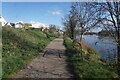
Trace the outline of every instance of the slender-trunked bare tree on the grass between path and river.
<instances>
[{"instance_id":1,"label":"slender-trunked bare tree on the grass between path and river","mask_svg":"<svg viewBox=\"0 0 120 80\"><path fill-rule=\"evenodd\" d=\"M80 47L82 49L82 38L83 35L90 29L97 26L100 20L100 13L96 11L96 5L89 2L75 3L75 13L76 13L76 29L79 31L80 35ZM82 51L81 51L82 56Z\"/></svg>"}]
</instances>

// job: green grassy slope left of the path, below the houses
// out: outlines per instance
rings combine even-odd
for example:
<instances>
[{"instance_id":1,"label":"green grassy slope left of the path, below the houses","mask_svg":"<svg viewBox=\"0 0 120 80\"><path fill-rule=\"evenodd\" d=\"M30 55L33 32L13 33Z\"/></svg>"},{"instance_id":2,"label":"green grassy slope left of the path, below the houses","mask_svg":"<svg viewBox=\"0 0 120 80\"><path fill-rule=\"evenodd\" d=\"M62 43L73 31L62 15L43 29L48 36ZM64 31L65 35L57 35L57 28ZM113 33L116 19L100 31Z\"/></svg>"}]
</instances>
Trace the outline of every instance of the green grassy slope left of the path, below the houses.
<instances>
[{"instance_id":1,"label":"green grassy slope left of the path, below the houses","mask_svg":"<svg viewBox=\"0 0 120 80\"><path fill-rule=\"evenodd\" d=\"M49 38L48 38L49 36ZM25 67L26 64L41 52L57 34L40 30L2 29L2 74L8 78L12 73Z\"/></svg>"}]
</instances>

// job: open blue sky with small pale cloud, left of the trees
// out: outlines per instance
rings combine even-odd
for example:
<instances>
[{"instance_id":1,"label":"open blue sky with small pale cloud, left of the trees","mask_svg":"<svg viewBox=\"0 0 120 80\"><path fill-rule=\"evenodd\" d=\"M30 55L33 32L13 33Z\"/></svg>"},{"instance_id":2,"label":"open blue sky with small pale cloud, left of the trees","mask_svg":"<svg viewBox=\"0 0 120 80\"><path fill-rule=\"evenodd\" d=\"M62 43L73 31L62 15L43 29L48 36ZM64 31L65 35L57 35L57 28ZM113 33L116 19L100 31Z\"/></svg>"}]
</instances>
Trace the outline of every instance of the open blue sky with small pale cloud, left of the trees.
<instances>
[{"instance_id":1,"label":"open blue sky with small pale cloud, left of the trees","mask_svg":"<svg viewBox=\"0 0 120 80\"><path fill-rule=\"evenodd\" d=\"M71 2L3 2L2 16L8 22L40 22L62 26L61 18Z\"/></svg>"}]
</instances>

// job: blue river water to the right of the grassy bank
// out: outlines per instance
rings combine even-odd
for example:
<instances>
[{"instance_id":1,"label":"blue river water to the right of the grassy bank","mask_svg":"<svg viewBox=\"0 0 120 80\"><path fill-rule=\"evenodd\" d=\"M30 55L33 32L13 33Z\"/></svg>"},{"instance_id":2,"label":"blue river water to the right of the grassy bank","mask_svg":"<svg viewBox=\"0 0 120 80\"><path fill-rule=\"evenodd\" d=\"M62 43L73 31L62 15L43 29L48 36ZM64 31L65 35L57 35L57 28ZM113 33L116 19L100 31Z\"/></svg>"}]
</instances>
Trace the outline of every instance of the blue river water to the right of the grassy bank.
<instances>
[{"instance_id":1,"label":"blue river water to the right of the grassy bank","mask_svg":"<svg viewBox=\"0 0 120 80\"><path fill-rule=\"evenodd\" d=\"M79 36L76 38L79 39ZM117 46L114 42L107 40L107 37L103 39L97 35L84 35L83 40L99 53L101 59L109 59L109 61L116 59Z\"/></svg>"}]
</instances>

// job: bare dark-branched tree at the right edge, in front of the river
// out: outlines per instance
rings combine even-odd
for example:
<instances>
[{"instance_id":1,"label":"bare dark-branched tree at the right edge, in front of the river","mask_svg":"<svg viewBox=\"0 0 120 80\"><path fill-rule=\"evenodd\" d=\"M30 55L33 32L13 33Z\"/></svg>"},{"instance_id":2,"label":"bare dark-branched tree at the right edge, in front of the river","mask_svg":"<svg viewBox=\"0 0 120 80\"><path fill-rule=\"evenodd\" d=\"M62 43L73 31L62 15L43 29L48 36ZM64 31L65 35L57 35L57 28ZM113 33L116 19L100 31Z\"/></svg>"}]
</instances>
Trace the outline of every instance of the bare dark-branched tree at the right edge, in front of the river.
<instances>
[{"instance_id":1,"label":"bare dark-branched tree at the right edge, in front of the river","mask_svg":"<svg viewBox=\"0 0 120 80\"><path fill-rule=\"evenodd\" d=\"M117 43L118 72L120 72L120 2L97 3L102 13L101 24Z\"/></svg>"}]
</instances>

